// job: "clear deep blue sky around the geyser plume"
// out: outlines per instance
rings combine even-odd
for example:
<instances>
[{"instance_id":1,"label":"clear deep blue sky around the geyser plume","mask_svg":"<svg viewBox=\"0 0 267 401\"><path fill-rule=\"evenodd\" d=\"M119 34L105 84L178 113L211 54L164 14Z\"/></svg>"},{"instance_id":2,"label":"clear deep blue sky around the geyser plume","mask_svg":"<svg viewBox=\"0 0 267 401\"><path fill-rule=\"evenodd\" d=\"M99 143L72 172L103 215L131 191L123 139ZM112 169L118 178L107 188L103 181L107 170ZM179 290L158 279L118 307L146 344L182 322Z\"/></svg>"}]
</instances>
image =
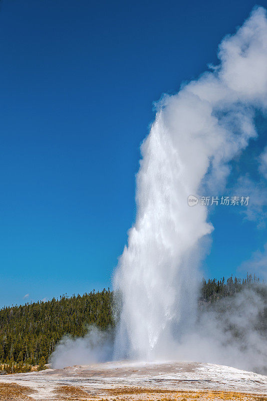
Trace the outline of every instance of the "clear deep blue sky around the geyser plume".
<instances>
[{"instance_id":1,"label":"clear deep blue sky around the geyser plume","mask_svg":"<svg viewBox=\"0 0 267 401\"><path fill-rule=\"evenodd\" d=\"M153 101L216 63L254 4L0 2L0 306L111 284ZM206 274L234 274L265 231L212 219Z\"/></svg>"}]
</instances>

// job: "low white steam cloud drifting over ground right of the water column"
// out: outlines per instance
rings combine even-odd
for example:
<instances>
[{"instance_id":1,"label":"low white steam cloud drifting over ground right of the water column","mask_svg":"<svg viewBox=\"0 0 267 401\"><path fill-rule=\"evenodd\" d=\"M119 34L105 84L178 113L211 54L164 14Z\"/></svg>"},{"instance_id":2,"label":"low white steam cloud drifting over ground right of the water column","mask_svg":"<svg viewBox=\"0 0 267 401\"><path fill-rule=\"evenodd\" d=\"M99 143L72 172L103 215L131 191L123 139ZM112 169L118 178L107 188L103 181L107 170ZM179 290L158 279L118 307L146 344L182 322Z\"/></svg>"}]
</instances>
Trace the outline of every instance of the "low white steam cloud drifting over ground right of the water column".
<instances>
[{"instance_id":1,"label":"low white steam cloud drifting over ground right of the water column","mask_svg":"<svg viewBox=\"0 0 267 401\"><path fill-rule=\"evenodd\" d=\"M206 306L174 355L266 374L266 298L260 284Z\"/></svg>"}]
</instances>

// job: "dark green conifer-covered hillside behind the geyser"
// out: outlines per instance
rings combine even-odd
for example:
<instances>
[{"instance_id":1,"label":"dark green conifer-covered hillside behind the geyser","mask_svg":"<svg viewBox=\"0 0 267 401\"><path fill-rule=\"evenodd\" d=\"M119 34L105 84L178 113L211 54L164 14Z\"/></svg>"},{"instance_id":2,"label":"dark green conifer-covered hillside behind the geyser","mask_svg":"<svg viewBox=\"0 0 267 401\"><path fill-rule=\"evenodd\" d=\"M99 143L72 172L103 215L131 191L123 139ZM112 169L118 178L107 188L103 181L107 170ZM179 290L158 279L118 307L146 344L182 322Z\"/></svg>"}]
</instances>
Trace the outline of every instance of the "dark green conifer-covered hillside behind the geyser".
<instances>
[{"instance_id":1,"label":"dark green conifer-covered hillside behind the geyser","mask_svg":"<svg viewBox=\"0 0 267 401\"><path fill-rule=\"evenodd\" d=\"M254 276L245 280L203 280L200 300L213 302L258 283ZM101 329L113 326L112 292L62 296L48 302L35 302L0 310L0 362L43 364L65 334L83 336L87 326Z\"/></svg>"}]
</instances>

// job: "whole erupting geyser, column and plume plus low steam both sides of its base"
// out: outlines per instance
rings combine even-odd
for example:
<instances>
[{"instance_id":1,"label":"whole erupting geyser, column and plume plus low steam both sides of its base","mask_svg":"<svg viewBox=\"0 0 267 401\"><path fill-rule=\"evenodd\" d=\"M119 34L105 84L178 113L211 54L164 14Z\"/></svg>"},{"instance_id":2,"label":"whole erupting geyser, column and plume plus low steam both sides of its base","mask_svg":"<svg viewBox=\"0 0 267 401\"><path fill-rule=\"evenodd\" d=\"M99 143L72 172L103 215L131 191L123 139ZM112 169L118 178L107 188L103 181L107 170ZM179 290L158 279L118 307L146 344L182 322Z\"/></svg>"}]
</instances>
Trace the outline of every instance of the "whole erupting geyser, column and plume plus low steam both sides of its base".
<instances>
[{"instance_id":1,"label":"whole erupting geyser, column and plume plus low steam both sides of its base","mask_svg":"<svg viewBox=\"0 0 267 401\"><path fill-rule=\"evenodd\" d=\"M52 354L54 367L110 360L113 354L115 360L266 368L266 338L257 330L265 306L256 293L239 294L230 316L204 313L195 325L198 268L213 227L205 206L187 203L189 195L223 195L231 160L257 136L255 111L267 110L265 9L255 8L223 39L218 59L198 80L162 98L141 146L136 222L114 274L115 344L96 328L84 339L65 338ZM241 341L225 331L234 325Z\"/></svg>"}]
</instances>

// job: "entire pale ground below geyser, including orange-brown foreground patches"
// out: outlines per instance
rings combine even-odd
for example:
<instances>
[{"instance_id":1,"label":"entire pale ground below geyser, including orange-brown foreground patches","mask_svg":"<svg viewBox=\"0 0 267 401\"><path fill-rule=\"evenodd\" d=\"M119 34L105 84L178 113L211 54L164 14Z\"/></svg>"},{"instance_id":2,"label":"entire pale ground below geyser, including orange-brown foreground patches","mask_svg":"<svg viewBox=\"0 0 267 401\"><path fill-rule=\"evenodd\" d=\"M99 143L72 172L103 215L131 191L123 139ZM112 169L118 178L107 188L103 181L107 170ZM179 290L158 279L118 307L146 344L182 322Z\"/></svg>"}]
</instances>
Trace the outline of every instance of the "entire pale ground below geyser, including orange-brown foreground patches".
<instances>
[{"instance_id":1,"label":"entire pale ground below geyser, including orange-brown foreground patches","mask_svg":"<svg viewBox=\"0 0 267 401\"><path fill-rule=\"evenodd\" d=\"M107 362L0 376L9 400L260 400L267 376L197 362Z\"/></svg>"}]
</instances>

